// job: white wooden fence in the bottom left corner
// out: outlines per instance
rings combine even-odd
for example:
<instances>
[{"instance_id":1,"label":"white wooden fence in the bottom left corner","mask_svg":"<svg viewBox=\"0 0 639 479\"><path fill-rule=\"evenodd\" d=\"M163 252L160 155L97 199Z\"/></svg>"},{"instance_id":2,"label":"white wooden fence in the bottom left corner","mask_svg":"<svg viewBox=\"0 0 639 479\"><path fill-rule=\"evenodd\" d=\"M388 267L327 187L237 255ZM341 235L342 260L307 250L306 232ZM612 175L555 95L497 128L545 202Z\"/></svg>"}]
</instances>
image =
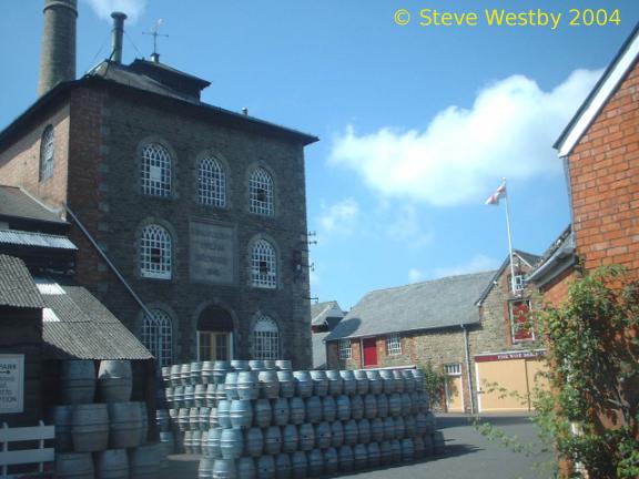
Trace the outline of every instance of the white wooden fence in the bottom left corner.
<instances>
[{"instance_id":1,"label":"white wooden fence in the bottom left corner","mask_svg":"<svg viewBox=\"0 0 639 479\"><path fill-rule=\"evenodd\" d=\"M45 448L44 440L55 437L55 426L40 426L9 428L6 422L0 428L0 467L2 475L0 478L6 479L7 468L14 465L39 463L40 472L44 470L44 462L51 462L55 458L53 448ZM39 441L38 449L9 450L9 442L17 441Z\"/></svg>"}]
</instances>

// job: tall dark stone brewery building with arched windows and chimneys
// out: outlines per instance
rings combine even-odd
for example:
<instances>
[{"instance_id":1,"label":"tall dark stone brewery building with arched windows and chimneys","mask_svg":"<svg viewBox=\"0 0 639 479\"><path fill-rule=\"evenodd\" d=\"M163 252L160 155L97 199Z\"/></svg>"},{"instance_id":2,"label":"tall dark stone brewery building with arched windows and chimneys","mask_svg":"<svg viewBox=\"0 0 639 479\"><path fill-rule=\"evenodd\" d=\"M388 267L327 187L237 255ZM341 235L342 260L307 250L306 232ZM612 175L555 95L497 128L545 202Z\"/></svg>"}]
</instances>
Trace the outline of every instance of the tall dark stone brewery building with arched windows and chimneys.
<instances>
[{"instance_id":1,"label":"tall dark stone brewery building with arched windows and chimneys","mask_svg":"<svg viewBox=\"0 0 639 479\"><path fill-rule=\"evenodd\" d=\"M72 224L77 281L153 353L311 365L304 146L201 101L209 82L113 49L75 79L77 0L44 2L39 99L0 132L0 182Z\"/></svg>"}]
</instances>

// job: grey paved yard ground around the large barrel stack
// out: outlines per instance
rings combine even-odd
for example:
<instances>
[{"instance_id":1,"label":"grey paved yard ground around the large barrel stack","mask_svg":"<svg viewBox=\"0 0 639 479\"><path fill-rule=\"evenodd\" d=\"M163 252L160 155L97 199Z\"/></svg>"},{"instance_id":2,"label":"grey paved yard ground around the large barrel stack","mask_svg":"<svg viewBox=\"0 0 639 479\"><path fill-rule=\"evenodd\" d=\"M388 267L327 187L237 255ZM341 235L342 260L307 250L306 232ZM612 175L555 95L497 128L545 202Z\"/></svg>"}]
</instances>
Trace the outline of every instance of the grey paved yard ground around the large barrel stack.
<instances>
[{"instance_id":1,"label":"grey paved yard ground around the large barrel stack","mask_svg":"<svg viewBox=\"0 0 639 479\"><path fill-rule=\"evenodd\" d=\"M526 416L487 416L485 420L505 434L516 435L521 444L537 444L536 429ZM552 453L544 452L527 457L507 447L489 441L469 424L467 416L437 415L437 428L446 439L446 455L422 462L367 470L341 476L372 479L549 479ZM538 448L537 448L538 449ZM162 479L197 478L199 456L171 456L170 467Z\"/></svg>"}]
</instances>

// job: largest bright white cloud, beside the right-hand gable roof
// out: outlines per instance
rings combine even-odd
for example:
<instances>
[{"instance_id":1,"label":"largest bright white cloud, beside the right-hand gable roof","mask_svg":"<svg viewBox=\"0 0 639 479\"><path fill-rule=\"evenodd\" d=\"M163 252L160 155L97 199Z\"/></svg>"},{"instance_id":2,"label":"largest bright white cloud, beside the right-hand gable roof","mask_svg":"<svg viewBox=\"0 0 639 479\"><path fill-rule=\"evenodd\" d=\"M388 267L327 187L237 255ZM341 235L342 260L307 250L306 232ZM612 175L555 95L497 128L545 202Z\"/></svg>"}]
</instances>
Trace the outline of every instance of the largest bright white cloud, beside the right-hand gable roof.
<instances>
[{"instance_id":1,"label":"largest bright white cloud, beside the right-hand gable roof","mask_svg":"<svg viewBox=\"0 0 639 479\"><path fill-rule=\"evenodd\" d=\"M557 173L551 149L600 71L577 70L549 92L513 75L478 92L470 109L449 106L425 131L353 126L333 143L329 163L355 171L385 197L435 206L479 203L503 176Z\"/></svg>"}]
</instances>

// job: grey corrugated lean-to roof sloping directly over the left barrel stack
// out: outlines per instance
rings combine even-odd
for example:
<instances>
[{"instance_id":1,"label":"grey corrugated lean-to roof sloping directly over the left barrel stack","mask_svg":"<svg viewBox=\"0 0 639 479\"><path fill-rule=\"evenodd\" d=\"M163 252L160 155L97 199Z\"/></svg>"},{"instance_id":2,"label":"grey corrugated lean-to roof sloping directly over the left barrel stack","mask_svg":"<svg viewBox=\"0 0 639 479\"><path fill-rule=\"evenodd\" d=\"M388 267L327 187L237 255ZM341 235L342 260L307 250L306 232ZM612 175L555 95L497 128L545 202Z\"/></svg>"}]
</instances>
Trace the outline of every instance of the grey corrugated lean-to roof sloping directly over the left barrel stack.
<instances>
[{"instance_id":1,"label":"grey corrugated lean-to roof sloping directly over the left barrel stack","mask_svg":"<svg viewBox=\"0 0 639 479\"><path fill-rule=\"evenodd\" d=\"M55 359L151 359L135 336L81 286L39 281L45 309L44 355ZM58 286L55 288L54 286ZM58 294L55 294L58 289ZM62 294L59 294L59 293ZM54 293L54 294L51 294Z\"/></svg>"}]
</instances>

